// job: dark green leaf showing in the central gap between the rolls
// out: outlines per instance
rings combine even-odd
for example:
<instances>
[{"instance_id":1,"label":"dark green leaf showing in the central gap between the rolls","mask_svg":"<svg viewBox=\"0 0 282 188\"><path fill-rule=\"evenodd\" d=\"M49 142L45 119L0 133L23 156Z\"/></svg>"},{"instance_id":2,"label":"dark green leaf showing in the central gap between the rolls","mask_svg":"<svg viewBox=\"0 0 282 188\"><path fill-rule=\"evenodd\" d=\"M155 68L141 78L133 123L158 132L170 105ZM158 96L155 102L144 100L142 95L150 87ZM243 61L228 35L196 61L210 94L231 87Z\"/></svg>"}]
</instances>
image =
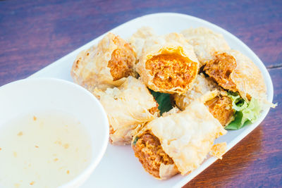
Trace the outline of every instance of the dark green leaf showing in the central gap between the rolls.
<instances>
[{"instance_id":1,"label":"dark green leaf showing in the central gap between the rolls","mask_svg":"<svg viewBox=\"0 0 282 188\"><path fill-rule=\"evenodd\" d=\"M154 96L154 99L159 104L160 114L170 111L173 108L171 104L171 95L170 94L154 92L152 89L149 89L149 91L151 92L151 94Z\"/></svg>"}]
</instances>

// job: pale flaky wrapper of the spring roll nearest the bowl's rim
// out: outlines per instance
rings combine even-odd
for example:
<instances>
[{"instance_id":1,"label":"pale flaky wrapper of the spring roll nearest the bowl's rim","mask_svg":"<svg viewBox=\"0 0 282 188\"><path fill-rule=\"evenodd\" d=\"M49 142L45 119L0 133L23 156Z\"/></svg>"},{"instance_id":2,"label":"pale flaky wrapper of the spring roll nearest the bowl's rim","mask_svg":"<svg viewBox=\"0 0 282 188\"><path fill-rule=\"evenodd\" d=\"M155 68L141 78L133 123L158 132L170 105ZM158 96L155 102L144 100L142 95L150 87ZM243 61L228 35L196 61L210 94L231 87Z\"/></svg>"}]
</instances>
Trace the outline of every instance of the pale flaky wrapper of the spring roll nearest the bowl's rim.
<instances>
[{"instance_id":1,"label":"pale flaky wrapper of the spring roll nearest the bowl's rim","mask_svg":"<svg viewBox=\"0 0 282 188\"><path fill-rule=\"evenodd\" d=\"M133 134L159 115L159 111L149 111L157 102L145 84L135 77L129 76L120 87L108 88L105 92L96 88L93 94L108 115L112 144L130 144Z\"/></svg>"}]
</instances>

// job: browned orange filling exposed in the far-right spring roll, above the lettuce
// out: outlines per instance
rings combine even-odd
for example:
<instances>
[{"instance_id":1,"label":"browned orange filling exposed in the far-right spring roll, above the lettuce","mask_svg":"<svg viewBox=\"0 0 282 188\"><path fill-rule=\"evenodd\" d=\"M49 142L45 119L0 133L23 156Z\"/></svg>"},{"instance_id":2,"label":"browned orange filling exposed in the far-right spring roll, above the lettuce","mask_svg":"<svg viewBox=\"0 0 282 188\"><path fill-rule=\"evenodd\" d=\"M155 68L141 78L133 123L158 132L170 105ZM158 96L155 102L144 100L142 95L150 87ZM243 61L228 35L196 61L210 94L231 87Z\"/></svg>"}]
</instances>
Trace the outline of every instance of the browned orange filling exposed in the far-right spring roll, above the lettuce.
<instances>
[{"instance_id":1,"label":"browned orange filling exposed in the far-right spring roll, above the lettuce","mask_svg":"<svg viewBox=\"0 0 282 188\"><path fill-rule=\"evenodd\" d=\"M236 66L235 58L223 53L217 54L213 60L208 61L204 67L204 71L224 89L237 92L236 85L231 80L231 73L235 70Z\"/></svg>"}]
</instances>

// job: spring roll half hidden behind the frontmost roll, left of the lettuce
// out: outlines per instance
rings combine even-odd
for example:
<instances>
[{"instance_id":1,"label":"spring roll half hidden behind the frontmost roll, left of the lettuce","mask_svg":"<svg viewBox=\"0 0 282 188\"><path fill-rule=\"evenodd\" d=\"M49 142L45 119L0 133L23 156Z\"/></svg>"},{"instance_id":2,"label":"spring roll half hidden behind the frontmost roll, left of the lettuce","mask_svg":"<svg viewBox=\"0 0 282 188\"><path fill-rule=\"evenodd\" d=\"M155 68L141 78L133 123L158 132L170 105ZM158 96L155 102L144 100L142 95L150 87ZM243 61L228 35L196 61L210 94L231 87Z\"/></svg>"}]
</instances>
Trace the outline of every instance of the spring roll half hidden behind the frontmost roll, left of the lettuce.
<instances>
[{"instance_id":1,"label":"spring roll half hidden behind the frontmost roll, left of the lettuce","mask_svg":"<svg viewBox=\"0 0 282 188\"><path fill-rule=\"evenodd\" d=\"M205 77L203 73L197 75L192 89L182 95L173 94L173 100L176 106L184 111L192 101L203 97L208 92L212 92L212 95L209 96L211 99L204 99L204 104L209 108L209 112L219 120L221 125L226 126L231 123L235 113L232 108L232 100L226 92L209 77Z\"/></svg>"}]
</instances>

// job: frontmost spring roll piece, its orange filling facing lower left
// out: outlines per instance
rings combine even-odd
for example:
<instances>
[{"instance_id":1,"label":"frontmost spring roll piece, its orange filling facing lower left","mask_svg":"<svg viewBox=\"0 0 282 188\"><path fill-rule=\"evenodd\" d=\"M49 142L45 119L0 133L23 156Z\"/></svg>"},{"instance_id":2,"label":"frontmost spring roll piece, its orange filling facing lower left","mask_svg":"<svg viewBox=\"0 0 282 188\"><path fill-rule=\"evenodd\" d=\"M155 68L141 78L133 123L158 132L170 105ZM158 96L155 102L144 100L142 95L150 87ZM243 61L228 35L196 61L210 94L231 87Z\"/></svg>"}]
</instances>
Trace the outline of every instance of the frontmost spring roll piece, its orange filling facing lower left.
<instances>
[{"instance_id":1,"label":"frontmost spring roll piece, its orange filling facing lower left","mask_svg":"<svg viewBox=\"0 0 282 188\"><path fill-rule=\"evenodd\" d=\"M226 144L214 139L226 134L207 106L193 101L185 111L168 114L147 123L133 138L132 147L143 168L164 180L176 173L195 170L211 152L221 158Z\"/></svg>"}]
</instances>

